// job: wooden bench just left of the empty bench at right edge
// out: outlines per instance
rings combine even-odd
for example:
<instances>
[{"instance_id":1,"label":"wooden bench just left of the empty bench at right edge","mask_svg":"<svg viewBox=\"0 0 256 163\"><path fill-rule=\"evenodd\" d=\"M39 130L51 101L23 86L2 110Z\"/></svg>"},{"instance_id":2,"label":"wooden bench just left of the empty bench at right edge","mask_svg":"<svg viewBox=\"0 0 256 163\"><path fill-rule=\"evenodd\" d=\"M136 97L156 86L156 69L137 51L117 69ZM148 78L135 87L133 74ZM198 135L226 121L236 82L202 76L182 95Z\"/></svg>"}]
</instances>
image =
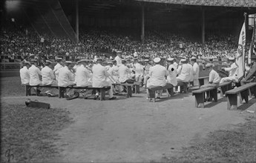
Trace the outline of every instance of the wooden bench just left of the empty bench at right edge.
<instances>
[{"instance_id":1,"label":"wooden bench just left of the empty bench at right edge","mask_svg":"<svg viewBox=\"0 0 256 163\"><path fill-rule=\"evenodd\" d=\"M220 87L220 96L223 97L225 92L227 90L232 89L232 82L223 82L219 84ZM209 92L209 101L211 102L212 99L214 99L214 102L217 102L217 88L218 87L206 87L206 88L200 88L199 90L192 91L192 95L195 97L195 106L198 107L204 107L204 101L205 101L205 93Z\"/></svg>"}]
</instances>

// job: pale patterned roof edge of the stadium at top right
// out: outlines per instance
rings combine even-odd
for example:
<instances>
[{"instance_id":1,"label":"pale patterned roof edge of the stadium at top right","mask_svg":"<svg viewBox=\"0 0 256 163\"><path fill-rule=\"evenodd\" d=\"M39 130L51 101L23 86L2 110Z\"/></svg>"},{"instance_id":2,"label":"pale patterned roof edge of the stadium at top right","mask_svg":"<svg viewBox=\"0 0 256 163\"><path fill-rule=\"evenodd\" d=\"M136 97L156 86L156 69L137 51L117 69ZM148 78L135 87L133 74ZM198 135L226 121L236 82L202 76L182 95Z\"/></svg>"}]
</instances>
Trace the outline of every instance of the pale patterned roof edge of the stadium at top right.
<instances>
[{"instance_id":1,"label":"pale patterned roof edge of the stadium at top right","mask_svg":"<svg viewBox=\"0 0 256 163\"><path fill-rule=\"evenodd\" d=\"M256 7L255 0L137 0L166 4L187 4L198 6Z\"/></svg>"}]
</instances>

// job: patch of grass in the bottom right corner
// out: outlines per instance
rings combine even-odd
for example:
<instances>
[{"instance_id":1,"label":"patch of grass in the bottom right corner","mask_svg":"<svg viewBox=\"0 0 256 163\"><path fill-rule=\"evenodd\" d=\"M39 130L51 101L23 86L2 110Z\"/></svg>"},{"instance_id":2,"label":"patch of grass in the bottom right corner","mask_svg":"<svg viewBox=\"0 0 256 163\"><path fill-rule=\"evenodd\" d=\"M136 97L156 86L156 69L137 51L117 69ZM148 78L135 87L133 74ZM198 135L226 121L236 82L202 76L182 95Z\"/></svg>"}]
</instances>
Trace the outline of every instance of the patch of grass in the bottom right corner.
<instances>
[{"instance_id":1,"label":"patch of grass in the bottom right corner","mask_svg":"<svg viewBox=\"0 0 256 163\"><path fill-rule=\"evenodd\" d=\"M163 162L256 162L256 119L234 130L217 130L207 139L183 148L181 156L163 158Z\"/></svg>"}]
</instances>

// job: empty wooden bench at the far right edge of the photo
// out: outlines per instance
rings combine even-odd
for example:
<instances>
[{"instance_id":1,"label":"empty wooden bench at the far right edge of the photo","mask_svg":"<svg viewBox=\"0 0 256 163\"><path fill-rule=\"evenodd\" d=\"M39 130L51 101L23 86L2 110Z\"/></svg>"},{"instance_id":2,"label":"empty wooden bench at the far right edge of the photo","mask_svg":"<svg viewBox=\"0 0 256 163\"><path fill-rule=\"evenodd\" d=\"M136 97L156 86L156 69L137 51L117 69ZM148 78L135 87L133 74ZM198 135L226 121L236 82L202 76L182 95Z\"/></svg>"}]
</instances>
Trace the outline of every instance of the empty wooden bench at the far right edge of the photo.
<instances>
[{"instance_id":1,"label":"empty wooden bench at the far right edge of the photo","mask_svg":"<svg viewBox=\"0 0 256 163\"><path fill-rule=\"evenodd\" d=\"M252 97L252 94L256 94L256 82L242 85L236 87L233 90L226 91L226 97L228 99L227 109L230 110L231 107L234 110L237 110L237 94L240 95L240 104L243 102L243 99L248 103L249 96Z\"/></svg>"}]
</instances>

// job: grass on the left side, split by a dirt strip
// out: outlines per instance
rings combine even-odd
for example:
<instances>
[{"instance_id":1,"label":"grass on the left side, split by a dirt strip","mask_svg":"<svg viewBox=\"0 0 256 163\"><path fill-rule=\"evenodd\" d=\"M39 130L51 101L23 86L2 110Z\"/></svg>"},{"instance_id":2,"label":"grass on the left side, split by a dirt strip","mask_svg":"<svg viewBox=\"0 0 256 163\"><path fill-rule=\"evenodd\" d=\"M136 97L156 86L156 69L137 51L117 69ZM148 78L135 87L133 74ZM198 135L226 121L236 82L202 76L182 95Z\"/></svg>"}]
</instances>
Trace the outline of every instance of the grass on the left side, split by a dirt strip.
<instances>
[{"instance_id":1,"label":"grass on the left side, split by a dirt strip","mask_svg":"<svg viewBox=\"0 0 256 163\"><path fill-rule=\"evenodd\" d=\"M21 95L19 77L1 79L1 97ZM58 156L60 149L53 142L59 139L57 132L72 122L68 115L62 108L32 108L1 100L1 162L47 162Z\"/></svg>"}]
</instances>

